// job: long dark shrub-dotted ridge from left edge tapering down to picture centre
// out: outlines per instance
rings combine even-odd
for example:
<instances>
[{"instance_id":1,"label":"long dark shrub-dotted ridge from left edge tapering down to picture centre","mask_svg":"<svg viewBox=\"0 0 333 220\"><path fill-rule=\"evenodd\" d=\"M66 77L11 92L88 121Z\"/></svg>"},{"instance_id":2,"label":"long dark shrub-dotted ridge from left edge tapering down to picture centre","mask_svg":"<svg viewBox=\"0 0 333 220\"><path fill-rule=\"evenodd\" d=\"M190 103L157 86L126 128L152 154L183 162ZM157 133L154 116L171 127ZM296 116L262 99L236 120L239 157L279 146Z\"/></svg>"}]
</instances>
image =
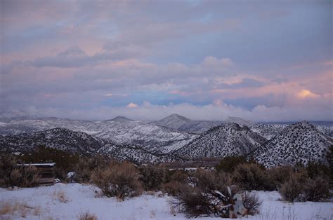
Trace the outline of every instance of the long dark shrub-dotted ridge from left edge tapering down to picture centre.
<instances>
[{"instance_id":1,"label":"long dark shrub-dotted ridge from left edge tapering down to picture centre","mask_svg":"<svg viewBox=\"0 0 333 220\"><path fill-rule=\"evenodd\" d=\"M87 135L84 132L73 132L65 128L0 137L0 151L29 152L37 146L88 155L102 154L117 160L129 160L133 163L181 160L171 154L152 153L138 146L119 145Z\"/></svg>"}]
</instances>

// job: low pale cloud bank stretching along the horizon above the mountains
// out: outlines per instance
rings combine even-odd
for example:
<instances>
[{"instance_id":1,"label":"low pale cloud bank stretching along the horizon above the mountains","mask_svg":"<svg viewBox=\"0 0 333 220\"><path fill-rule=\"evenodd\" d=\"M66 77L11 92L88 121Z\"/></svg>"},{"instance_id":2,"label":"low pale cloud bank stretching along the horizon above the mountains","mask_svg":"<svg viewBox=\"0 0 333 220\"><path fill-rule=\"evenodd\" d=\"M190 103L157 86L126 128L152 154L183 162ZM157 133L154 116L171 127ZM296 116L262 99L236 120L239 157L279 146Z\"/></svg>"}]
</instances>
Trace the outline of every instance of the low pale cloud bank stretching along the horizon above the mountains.
<instances>
[{"instance_id":1,"label":"low pale cloud bank stretching along the horizon above the mountains","mask_svg":"<svg viewBox=\"0 0 333 220\"><path fill-rule=\"evenodd\" d=\"M195 106L193 104L169 104L156 105L145 102L141 105L130 103L127 106L98 107L95 109L57 109L44 108L34 110L34 114L46 116L58 116L88 120L106 120L115 116L126 116L136 120L159 120L170 114L180 114L195 120L223 121L228 116L241 117L256 122L281 122L281 121L332 121L332 112L329 109L321 109L320 106L302 108L300 106L268 107L259 105L246 110L216 101L214 104ZM318 111L321 113L318 115Z\"/></svg>"}]
</instances>

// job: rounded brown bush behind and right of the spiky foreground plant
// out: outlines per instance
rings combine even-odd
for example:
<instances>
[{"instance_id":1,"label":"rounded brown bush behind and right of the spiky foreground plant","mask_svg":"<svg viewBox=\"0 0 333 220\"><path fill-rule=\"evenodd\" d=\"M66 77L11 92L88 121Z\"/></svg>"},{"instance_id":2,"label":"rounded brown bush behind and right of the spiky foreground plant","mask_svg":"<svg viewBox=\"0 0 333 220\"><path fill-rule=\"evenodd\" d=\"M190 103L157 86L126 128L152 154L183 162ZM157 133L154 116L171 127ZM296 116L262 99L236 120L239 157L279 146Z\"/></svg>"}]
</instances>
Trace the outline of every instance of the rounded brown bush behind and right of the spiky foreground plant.
<instances>
[{"instance_id":1,"label":"rounded brown bush behind and right of the spiky foreground plant","mask_svg":"<svg viewBox=\"0 0 333 220\"><path fill-rule=\"evenodd\" d=\"M256 163L238 165L232 178L233 183L248 191L265 189L269 181L263 168Z\"/></svg>"}]
</instances>

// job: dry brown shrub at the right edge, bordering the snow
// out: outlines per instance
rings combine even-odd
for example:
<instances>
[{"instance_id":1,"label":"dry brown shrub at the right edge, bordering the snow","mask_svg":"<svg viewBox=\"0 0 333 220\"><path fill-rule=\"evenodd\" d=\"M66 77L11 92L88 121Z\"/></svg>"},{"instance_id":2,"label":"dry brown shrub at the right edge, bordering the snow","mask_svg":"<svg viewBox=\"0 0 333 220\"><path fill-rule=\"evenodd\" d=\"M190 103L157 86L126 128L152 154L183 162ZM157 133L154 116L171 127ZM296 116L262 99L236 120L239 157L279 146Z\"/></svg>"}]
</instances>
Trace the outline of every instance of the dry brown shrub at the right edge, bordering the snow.
<instances>
[{"instance_id":1,"label":"dry brown shrub at the right edge, bordering the snow","mask_svg":"<svg viewBox=\"0 0 333 220\"><path fill-rule=\"evenodd\" d=\"M331 197L329 193L329 180L325 177L306 179L302 186L302 200L318 202Z\"/></svg>"}]
</instances>

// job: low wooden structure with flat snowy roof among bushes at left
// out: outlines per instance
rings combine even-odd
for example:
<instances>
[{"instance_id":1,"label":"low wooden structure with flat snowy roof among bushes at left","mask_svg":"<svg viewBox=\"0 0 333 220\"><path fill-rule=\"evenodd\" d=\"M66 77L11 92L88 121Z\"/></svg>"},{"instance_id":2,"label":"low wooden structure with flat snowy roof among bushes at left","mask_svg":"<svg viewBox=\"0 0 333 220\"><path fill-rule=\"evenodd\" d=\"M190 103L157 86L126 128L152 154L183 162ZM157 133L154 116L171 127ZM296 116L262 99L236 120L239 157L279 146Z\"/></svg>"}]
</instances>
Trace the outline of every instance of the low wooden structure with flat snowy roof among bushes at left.
<instances>
[{"instance_id":1,"label":"low wooden structure with flat snowy roof among bushes at left","mask_svg":"<svg viewBox=\"0 0 333 220\"><path fill-rule=\"evenodd\" d=\"M39 170L39 179L38 179L39 185L51 186L55 184L55 179L54 179L55 163L22 163L18 164L18 166L37 167Z\"/></svg>"}]
</instances>

